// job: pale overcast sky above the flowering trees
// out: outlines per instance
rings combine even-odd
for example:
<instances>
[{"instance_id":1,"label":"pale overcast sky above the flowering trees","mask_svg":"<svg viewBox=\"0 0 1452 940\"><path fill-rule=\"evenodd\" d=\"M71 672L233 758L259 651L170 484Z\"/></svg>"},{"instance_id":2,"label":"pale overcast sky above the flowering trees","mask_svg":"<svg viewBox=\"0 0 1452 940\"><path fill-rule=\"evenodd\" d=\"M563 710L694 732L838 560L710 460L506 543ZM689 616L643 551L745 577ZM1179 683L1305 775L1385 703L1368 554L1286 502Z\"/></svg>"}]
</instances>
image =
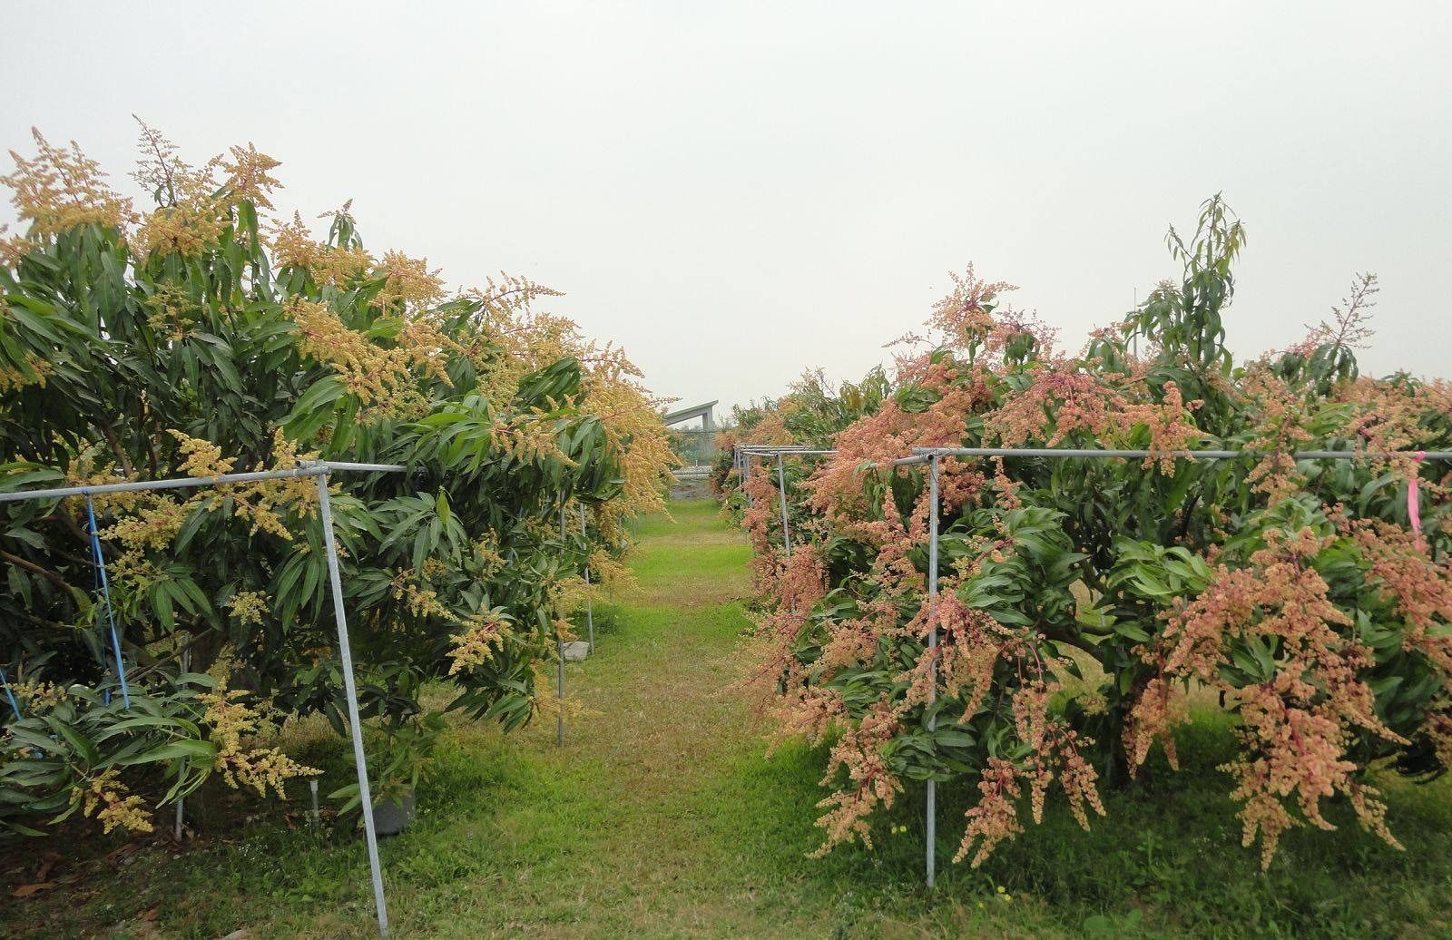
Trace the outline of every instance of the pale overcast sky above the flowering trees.
<instances>
[{"instance_id":1,"label":"pale overcast sky above the flowering trees","mask_svg":"<svg viewBox=\"0 0 1452 940\"><path fill-rule=\"evenodd\" d=\"M279 207L499 268L661 395L855 377L968 261L1085 332L1217 191L1252 355L1381 276L1365 368L1452 374L1452 4L7 3L0 147L125 180L256 142ZM4 161L6 164L9 161ZM128 181L129 183L129 181ZM9 206L0 220L10 220Z\"/></svg>"}]
</instances>

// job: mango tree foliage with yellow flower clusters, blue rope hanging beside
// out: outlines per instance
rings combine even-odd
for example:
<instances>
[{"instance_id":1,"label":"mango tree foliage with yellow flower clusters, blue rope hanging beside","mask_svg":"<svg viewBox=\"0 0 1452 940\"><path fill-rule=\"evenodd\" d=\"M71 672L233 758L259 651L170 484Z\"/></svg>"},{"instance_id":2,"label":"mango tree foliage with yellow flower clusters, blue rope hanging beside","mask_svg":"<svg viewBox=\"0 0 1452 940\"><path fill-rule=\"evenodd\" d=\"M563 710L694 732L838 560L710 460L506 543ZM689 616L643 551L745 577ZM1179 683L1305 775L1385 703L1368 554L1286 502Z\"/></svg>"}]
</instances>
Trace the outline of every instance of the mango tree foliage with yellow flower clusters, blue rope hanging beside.
<instances>
[{"instance_id":1,"label":"mango tree foliage with yellow flower clusters, blue rope hanging beside","mask_svg":"<svg viewBox=\"0 0 1452 940\"><path fill-rule=\"evenodd\" d=\"M556 292L534 281L452 292L423 260L372 254L347 205L315 238L274 215L279 164L250 145L192 167L144 128L148 212L77 145L36 148L3 177L26 231L0 252L0 489L407 464L331 480L383 793L427 762L425 680L507 728L553 706L534 669L579 574L620 570L623 522L659 506L671 461L630 361L537 310ZM167 799L212 772L258 791L311 773L258 734L314 712L343 731L317 508L296 479L0 509L0 664L20 706L0 827L83 809L145 828L132 791L158 770Z\"/></svg>"}]
</instances>

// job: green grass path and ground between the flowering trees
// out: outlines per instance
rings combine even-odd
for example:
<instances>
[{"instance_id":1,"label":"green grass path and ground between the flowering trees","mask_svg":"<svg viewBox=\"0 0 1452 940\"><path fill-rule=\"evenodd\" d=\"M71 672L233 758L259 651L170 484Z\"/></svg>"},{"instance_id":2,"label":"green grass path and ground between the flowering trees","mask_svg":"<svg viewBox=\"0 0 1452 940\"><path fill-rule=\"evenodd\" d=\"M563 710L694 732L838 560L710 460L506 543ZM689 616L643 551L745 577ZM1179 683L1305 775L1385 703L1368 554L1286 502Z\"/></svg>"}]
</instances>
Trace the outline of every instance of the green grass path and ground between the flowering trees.
<instances>
[{"instance_id":1,"label":"green grass path and ground between the flowering trees","mask_svg":"<svg viewBox=\"0 0 1452 940\"><path fill-rule=\"evenodd\" d=\"M1092 833L1051 798L1044 824L979 870L948 862L971 785L942 786L934 894L921 886L918 788L881 821L877 849L809 859L823 757L787 746L765 759L765 728L736 690L751 666L741 654L748 548L709 503L672 512L640 525L639 595L600 611L597 656L569 667L569 695L591 711L563 749L553 722L508 737L469 722L447 733L420 821L382 844L396 936L1452 931L1446 786L1387 782L1407 852L1336 812L1339 833L1291 833L1262 873L1215 770L1233 751L1215 714L1183 733L1179 773L1151 762L1140 782L1106 793L1109 817ZM350 773L333 738L308 757L325 766L325 788ZM6 891L0 934L367 936L362 841L298 824L295 804L254 807L253 821L182 850L155 843L129 865L93 860L87 878L25 901ZM909 831L889 836L889 822Z\"/></svg>"}]
</instances>

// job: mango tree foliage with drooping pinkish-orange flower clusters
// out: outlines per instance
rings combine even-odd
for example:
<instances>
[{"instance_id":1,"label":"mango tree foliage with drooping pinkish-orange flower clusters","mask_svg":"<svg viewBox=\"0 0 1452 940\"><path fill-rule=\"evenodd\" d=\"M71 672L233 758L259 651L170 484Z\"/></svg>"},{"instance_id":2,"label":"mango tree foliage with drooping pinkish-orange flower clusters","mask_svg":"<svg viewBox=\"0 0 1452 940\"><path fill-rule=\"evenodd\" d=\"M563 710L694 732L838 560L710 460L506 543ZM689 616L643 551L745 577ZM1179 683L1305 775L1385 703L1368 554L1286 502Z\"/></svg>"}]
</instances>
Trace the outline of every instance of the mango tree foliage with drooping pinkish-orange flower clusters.
<instances>
[{"instance_id":1,"label":"mango tree foliage with drooping pinkish-orange flower clusters","mask_svg":"<svg viewBox=\"0 0 1452 940\"><path fill-rule=\"evenodd\" d=\"M1359 373L1372 276L1304 342L1237 363L1224 312L1244 241L1208 200L1192 236L1169 232L1182 276L1079 354L970 268L870 413L788 396L758 421L838 451L791 461L790 557L774 473L755 464L751 508L727 492L756 548L781 733L831 741L825 849L870 841L909 780L977 786L958 854L974 865L1054 783L1088 827L1105 778L1154 749L1173 764L1205 696L1237 722L1224 770L1266 865L1286 828L1331 827L1327 799L1397 844L1374 772L1452 760L1449 476L1411 455L1452 445L1452 386ZM942 458L929 615L928 470L867 464L931 447L1151 455ZM1359 458L1292 458L1307 447Z\"/></svg>"}]
</instances>

